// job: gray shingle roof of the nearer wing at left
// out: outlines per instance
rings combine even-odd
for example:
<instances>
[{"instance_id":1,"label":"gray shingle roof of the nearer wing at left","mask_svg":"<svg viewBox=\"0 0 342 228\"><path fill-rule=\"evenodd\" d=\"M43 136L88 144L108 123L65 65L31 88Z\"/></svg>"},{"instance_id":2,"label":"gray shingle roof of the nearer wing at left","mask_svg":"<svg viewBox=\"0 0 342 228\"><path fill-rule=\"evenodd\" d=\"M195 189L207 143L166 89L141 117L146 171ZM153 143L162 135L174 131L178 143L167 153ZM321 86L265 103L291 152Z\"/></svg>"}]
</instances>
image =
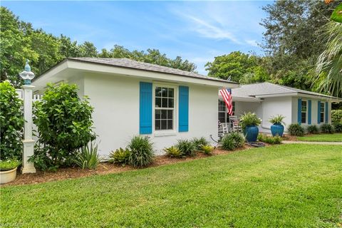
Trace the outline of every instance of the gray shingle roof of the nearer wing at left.
<instances>
[{"instance_id":1,"label":"gray shingle roof of the nearer wing at left","mask_svg":"<svg viewBox=\"0 0 342 228\"><path fill-rule=\"evenodd\" d=\"M98 63L98 64L104 64L108 66L118 66L123 68L133 68L143 71L154 71L159 73L170 73L177 76L187 76L190 78L199 78L199 79L205 79L205 80L211 80L211 81L221 81L224 83L235 83L232 81L227 81L224 79L219 78L212 78L209 76L203 76L199 73L192 73L188 71L182 71L175 68L170 68L166 66L158 66L151 63L143 63L139 61L134 61L129 58L68 58L75 61L82 61L82 62L88 62L88 63Z\"/></svg>"}]
</instances>

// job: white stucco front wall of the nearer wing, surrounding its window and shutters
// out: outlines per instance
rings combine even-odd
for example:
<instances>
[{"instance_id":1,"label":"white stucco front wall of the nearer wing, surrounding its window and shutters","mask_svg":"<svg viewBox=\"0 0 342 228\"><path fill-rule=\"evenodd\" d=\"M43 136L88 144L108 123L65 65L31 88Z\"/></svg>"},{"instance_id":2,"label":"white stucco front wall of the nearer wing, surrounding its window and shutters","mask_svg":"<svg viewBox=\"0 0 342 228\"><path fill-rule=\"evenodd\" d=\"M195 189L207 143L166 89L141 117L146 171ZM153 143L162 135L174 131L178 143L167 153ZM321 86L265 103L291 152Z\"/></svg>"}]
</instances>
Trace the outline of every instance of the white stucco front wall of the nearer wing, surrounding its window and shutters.
<instances>
[{"instance_id":1,"label":"white stucco front wall of the nearer wing, surrounding its window and shutters","mask_svg":"<svg viewBox=\"0 0 342 228\"><path fill-rule=\"evenodd\" d=\"M100 155L108 155L111 150L125 147L133 135L139 134L139 78L114 75L87 75L84 93L90 97L95 108L93 120L98 134ZM158 82L158 84L162 84ZM172 84L178 86L177 84ZM158 134L150 136L155 143L157 154L180 138L209 135L217 138L217 88L209 86L189 86L189 132ZM177 94L177 91L176 91ZM176 105L177 128L177 105Z\"/></svg>"}]
</instances>

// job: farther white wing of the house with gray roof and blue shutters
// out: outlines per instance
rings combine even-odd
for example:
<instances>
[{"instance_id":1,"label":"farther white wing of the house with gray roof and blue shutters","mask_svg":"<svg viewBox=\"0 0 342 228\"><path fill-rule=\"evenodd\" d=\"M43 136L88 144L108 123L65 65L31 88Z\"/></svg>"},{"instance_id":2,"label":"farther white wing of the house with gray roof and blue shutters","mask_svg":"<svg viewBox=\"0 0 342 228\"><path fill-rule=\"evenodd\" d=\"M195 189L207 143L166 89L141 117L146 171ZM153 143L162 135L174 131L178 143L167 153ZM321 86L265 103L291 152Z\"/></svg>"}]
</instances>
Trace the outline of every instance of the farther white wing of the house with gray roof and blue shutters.
<instances>
[{"instance_id":1,"label":"farther white wing of the house with gray roof and blue shutters","mask_svg":"<svg viewBox=\"0 0 342 228\"><path fill-rule=\"evenodd\" d=\"M261 118L259 131L270 133L271 116L285 116L286 125L321 125L331 123L331 103L339 103L341 98L321 93L299 90L273 83L255 83L232 89L233 115L239 118L245 112L254 112ZM219 97L219 120L229 121L222 97Z\"/></svg>"}]
</instances>

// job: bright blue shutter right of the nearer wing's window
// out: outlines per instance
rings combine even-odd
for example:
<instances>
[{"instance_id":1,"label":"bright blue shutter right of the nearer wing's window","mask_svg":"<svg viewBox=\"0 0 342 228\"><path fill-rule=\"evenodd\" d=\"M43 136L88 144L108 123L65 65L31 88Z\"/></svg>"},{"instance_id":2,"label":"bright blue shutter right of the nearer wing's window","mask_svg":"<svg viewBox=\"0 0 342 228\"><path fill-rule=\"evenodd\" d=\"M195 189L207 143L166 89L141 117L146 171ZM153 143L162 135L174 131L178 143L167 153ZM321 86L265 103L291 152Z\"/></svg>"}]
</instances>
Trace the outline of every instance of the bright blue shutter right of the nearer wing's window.
<instances>
[{"instance_id":1,"label":"bright blue shutter right of the nearer wing's window","mask_svg":"<svg viewBox=\"0 0 342 228\"><path fill-rule=\"evenodd\" d=\"M180 132L187 132L189 131L189 87L180 86L179 90L180 100L178 104L178 130Z\"/></svg>"}]
</instances>

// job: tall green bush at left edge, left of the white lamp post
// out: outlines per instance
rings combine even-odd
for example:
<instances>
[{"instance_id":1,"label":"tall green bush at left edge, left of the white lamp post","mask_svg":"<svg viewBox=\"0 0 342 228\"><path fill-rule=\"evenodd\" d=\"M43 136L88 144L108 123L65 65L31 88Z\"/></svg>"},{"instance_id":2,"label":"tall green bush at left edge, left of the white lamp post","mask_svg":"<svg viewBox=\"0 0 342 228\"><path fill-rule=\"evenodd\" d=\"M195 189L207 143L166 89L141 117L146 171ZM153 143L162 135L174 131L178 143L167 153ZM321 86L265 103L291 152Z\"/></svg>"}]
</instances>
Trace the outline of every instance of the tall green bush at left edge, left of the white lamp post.
<instances>
[{"instance_id":1,"label":"tall green bush at left edge, left of the white lamp post","mask_svg":"<svg viewBox=\"0 0 342 228\"><path fill-rule=\"evenodd\" d=\"M21 160L24 129L22 100L7 81L0 83L0 105L0 160Z\"/></svg>"}]
</instances>

